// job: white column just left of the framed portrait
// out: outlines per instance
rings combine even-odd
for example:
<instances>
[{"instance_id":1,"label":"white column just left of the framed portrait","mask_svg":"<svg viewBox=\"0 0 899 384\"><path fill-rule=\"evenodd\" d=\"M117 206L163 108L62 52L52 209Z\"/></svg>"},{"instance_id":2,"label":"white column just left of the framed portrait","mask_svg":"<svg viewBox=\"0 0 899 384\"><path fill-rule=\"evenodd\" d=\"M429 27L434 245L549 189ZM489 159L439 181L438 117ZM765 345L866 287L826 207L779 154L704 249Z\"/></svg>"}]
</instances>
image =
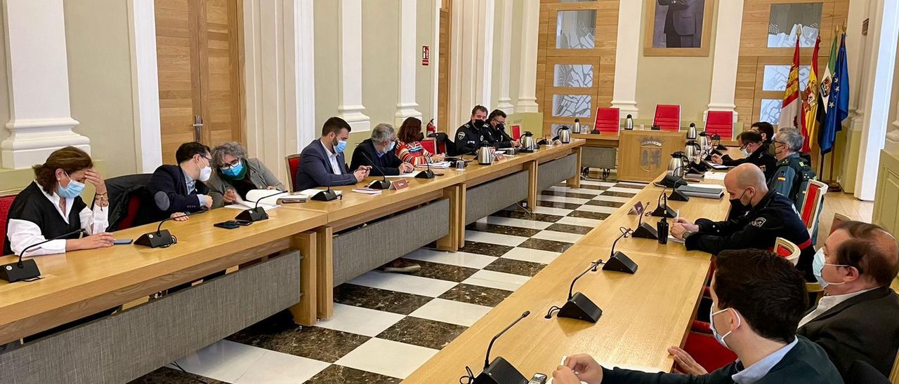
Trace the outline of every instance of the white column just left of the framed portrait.
<instances>
[{"instance_id":1,"label":"white column just left of the framed portrait","mask_svg":"<svg viewBox=\"0 0 899 384\"><path fill-rule=\"evenodd\" d=\"M640 58L639 21L643 20L643 1L619 3L618 42L615 46L615 88L612 91L612 107L619 109L620 117L639 117L636 108L636 63ZM631 22L625 22L631 21ZM548 69L547 69L548 70Z\"/></svg>"}]
</instances>

